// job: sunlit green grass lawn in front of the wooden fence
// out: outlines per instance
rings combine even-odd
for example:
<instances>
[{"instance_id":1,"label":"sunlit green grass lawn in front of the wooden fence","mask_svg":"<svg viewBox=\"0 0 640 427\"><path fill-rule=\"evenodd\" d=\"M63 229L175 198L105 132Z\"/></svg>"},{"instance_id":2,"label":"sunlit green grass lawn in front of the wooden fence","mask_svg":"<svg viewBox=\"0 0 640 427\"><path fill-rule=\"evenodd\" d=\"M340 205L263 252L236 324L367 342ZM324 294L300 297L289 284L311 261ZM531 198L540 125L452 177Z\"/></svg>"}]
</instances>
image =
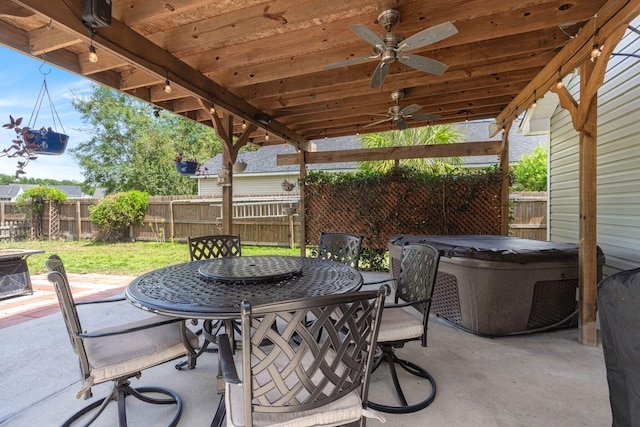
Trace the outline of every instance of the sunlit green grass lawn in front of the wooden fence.
<instances>
[{"instance_id":1,"label":"sunlit green grass lawn in front of the wooden fence","mask_svg":"<svg viewBox=\"0 0 640 427\"><path fill-rule=\"evenodd\" d=\"M140 275L147 271L189 261L186 243L134 242L93 243L24 241L0 243L2 249L42 249L43 254L27 258L29 273L46 273L44 261L58 255L69 273ZM300 248L242 246L242 255L300 255Z\"/></svg>"}]
</instances>

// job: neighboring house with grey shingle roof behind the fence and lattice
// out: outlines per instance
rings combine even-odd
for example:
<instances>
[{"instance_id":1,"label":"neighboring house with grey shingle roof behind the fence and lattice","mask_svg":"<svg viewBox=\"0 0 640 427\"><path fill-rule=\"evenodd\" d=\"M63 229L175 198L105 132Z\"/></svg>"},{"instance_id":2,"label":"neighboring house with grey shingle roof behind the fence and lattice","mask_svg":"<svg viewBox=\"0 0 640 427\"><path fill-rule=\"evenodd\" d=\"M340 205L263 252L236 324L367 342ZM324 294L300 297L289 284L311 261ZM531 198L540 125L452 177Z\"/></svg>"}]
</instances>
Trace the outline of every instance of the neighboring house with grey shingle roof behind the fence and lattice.
<instances>
[{"instance_id":1,"label":"neighboring house with grey shingle roof behind the fence and lattice","mask_svg":"<svg viewBox=\"0 0 640 427\"><path fill-rule=\"evenodd\" d=\"M489 139L489 124L484 122L460 123L455 125L460 128L465 141L487 141ZM546 145L547 136L536 135L533 137L524 136L512 128L509 134L509 161L515 163L524 154L530 154L534 148L540 144ZM340 137L327 140L314 141L318 151L350 150L360 148L358 137ZM258 151L241 153L238 161L247 163L247 169L242 173L233 174L233 196L236 200L243 197L255 196L265 198L283 198L287 196L297 197L299 192L294 189L292 192L285 192L282 189L282 182L286 179L289 182L297 183L300 168L298 166L278 166L277 156L279 154L294 154L295 148L291 145L270 145L260 148ZM481 168L498 163L498 156L476 156L463 158L465 166L469 168ZM202 196L222 196L222 187L217 185L217 170L222 165L222 154L201 166L201 170L209 171L208 176L196 176L198 178L198 194ZM307 170L323 170L326 172L355 171L358 166L356 162L309 164Z\"/></svg>"}]
</instances>

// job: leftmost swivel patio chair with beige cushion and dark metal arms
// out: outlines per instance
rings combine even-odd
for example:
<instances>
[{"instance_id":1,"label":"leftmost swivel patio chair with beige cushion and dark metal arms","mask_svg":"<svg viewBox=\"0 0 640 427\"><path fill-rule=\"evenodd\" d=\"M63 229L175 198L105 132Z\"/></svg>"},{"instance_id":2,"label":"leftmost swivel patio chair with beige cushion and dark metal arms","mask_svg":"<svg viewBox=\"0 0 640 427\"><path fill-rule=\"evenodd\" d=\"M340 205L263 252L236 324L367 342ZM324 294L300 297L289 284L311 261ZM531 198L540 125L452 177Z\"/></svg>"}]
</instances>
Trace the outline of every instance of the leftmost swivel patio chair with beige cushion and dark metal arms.
<instances>
[{"instance_id":1,"label":"leftmost swivel patio chair with beige cushion and dark metal arms","mask_svg":"<svg viewBox=\"0 0 640 427\"><path fill-rule=\"evenodd\" d=\"M184 320L153 315L117 327L85 332L80 324L77 306L112 303L123 301L124 298L75 302L60 258L51 255L45 261L45 266L49 271L47 278L53 283L58 296L71 346L80 359L83 382L76 397L79 399L84 396L88 399L92 396L91 387L107 381L113 382L108 396L85 406L62 425L69 426L79 420L89 425L111 401L117 401L119 425L126 426L127 396L133 396L149 404L176 405L174 416L169 422L170 426L176 425L182 414L182 401L176 392L164 387L133 388L129 380L133 377L139 378L144 369L194 354L193 348L198 345L198 339L191 331L185 330ZM133 306L131 308L134 309ZM168 397L158 398L155 394ZM90 414L94 409L96 411ZM85 421L87 418L88 421Z\"/></svg>"}]
</instances>

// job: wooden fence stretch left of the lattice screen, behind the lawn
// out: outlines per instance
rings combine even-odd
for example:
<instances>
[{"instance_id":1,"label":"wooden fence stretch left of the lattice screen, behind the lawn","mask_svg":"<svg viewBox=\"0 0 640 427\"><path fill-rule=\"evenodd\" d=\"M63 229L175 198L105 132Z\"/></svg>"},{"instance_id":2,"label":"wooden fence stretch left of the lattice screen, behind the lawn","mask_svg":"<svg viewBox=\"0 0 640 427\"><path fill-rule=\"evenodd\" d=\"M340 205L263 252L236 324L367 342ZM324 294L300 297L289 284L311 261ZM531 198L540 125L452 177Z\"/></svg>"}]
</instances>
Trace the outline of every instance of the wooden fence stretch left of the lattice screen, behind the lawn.
<instances>
[{"instance_id":1,"label":"wooden fence stretch left of the lattice screen, behind the lawn","mask_svg":"<svg viewBox=\"0 0 640 427\"><path fill-rule=\"evenodd\" d=\"M96 232L89 219L89 207L100 199L68 200L59 206L55 225L49 209L42 219L44 238L87 240ZM131 239L140 241L186 241L189 236L216 234L222 230L222 202L202 196L158 196L149 198L144 221L131 227ZM299 246L298 215L286 215L285 208L297 203L277 200L238 201L234 203L234 233L244 244L262 246ZM0 205L0 241L29 238L30 224L14 203ZM5 229L6 228L6 229ZM55 234L51 231L55 230ZM17 230L21 230L18 233ZM11 234L10 234L11 231Z\"/></svg>"}]
</instances>

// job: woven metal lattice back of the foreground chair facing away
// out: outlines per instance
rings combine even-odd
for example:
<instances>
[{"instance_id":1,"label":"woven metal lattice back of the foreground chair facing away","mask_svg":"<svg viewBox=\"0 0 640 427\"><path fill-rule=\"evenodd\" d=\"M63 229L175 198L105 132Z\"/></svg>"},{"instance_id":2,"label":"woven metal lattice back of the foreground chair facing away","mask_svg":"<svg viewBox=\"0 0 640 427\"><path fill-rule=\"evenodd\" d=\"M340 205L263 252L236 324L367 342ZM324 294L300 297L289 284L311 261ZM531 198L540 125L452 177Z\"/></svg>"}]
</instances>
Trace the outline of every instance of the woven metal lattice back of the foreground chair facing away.
<instances>
[{"instance_id":1,"label":"woven metal lattice back of the foreground chair facing away","mask_svg":"<svg viewBox=\"0 0 640 427\"><path fill-rule=\"evenodd\" d=\"M251 386L244 387L244 419L317 408L358 389L366 404L384 297L381 289L245 303L242 372Z\"/></svg>"}]
</instances>

